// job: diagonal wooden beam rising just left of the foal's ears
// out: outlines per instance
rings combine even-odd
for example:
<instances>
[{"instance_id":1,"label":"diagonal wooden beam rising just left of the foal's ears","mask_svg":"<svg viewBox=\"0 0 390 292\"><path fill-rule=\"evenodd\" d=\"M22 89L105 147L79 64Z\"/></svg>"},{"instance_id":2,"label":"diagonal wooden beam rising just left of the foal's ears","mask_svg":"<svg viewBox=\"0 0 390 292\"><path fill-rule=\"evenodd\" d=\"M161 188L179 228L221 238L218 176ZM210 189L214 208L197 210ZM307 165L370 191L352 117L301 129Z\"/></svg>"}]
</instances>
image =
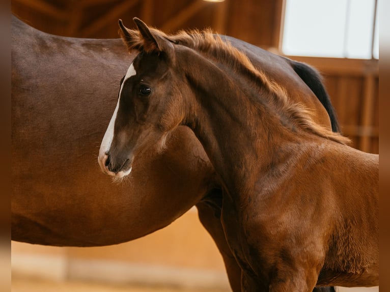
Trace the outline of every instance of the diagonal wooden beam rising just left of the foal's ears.
<instances>
[{"instance_id":1,"label":"diagonal wooden beam rising just left of the foal's ears","mask_svg":"<svg viewBox=\"0 0 390 292\"><path fill-rule=\"evenodd\" d=\"M98 18L95 22L84 28L81 32L82 36L89 37L99 32L107 23L117 21L121 13L135 6L140 0L124 0L113 9L109 10L104 16Z\"/></svg>"}]
</instances>

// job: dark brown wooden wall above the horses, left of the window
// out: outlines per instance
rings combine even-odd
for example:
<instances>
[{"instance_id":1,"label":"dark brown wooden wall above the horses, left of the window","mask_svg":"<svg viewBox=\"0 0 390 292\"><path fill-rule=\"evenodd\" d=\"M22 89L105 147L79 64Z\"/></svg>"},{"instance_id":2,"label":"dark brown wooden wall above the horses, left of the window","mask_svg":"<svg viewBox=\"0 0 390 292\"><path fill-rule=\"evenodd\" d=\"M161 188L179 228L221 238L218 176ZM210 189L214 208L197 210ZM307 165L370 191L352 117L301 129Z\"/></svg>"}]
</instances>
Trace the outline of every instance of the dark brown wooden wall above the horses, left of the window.
<instances>
[{"instance_id":1,"label":"dark brown wooden wall above the horses, left of the window","mask_svg":"<svg viewBox=\"0 0 390 292\"><path fill-rule=\"evenodd\" d=\"M117 38L118 19L128 27L138 17L167 33L212 27L246 42L276 45L283 1L226 0L12 0L12 12L47 33Z\"/></svg>"}]
</instances>

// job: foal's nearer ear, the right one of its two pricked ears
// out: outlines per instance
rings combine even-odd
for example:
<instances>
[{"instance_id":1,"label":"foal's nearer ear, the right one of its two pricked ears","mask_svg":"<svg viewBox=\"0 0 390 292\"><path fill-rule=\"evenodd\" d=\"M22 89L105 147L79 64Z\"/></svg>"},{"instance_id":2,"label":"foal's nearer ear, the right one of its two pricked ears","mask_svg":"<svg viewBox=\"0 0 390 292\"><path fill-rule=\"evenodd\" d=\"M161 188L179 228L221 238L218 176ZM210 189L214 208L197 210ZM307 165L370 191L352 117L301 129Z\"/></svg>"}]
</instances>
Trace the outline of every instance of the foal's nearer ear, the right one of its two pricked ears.
<instances>
[{"instance_id":1,"label":"foal's nearer ear, the right one of its two pricked ears","mask_svg":"<svg viewBox=\"0 0 390 292\"><path fill-rule=\"evenodd\" d=\"M164 52L173 57L173 44L158 30L149 28L141 19L133 18L143 38L143 50L146 52Z\"/></svg>"}]
</instances>

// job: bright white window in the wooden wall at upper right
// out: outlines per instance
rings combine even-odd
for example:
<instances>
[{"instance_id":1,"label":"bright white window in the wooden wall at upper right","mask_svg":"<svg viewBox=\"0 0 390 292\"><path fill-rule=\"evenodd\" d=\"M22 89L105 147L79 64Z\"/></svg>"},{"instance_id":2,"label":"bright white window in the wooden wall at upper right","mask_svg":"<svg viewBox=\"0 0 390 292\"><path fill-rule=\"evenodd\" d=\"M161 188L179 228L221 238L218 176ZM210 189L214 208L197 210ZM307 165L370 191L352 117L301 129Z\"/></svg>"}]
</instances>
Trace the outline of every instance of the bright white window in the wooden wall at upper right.
<instances>
[{"instance_id":1,"label":"bright white window in the wooden wall at upper right","mask_svg":"<svg viewBox=\"0 0 390 292\"><path fill-rule=\"evenodd\" d=\"M378 59L377 1L286 0L283 53Z\"/></svg>"}]
</instances>

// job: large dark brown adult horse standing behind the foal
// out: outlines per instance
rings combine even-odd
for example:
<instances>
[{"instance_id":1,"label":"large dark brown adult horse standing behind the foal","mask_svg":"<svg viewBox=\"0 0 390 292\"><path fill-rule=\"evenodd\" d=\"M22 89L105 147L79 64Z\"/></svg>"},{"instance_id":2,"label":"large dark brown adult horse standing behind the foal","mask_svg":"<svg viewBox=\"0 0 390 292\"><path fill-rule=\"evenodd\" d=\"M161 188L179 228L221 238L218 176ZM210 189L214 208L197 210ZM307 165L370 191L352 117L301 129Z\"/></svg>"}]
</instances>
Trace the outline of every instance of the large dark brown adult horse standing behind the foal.
<instances>
[{"instance_id":1,"label":"large dark brown adult horse standing behind the foal","mask_svg":"<svg viewBox=\"0 0 390 292\"><path fill-rule=\"evenodd\" d=\"M325 109L295 73L301 74L304 65L226 38L258 68L274 72L275 79L280 66L294 97L312 108L318 122L329 125ZM110 119L107 109L117 102L115 80L135 57L127 55L122 40L52 36L13 17L11 49L12 240L54 246L117 244L162 228L196 205L224 257L233 290L239 291L241 270L219 220L219 182L187 127L177 129L163 153L138 157L129 184L112 184L90 154ZM312 78L318 82L313 91L321 91L316 75ZM327 100L322 102L331 114Z\"/></svg>"}]
</instances>

